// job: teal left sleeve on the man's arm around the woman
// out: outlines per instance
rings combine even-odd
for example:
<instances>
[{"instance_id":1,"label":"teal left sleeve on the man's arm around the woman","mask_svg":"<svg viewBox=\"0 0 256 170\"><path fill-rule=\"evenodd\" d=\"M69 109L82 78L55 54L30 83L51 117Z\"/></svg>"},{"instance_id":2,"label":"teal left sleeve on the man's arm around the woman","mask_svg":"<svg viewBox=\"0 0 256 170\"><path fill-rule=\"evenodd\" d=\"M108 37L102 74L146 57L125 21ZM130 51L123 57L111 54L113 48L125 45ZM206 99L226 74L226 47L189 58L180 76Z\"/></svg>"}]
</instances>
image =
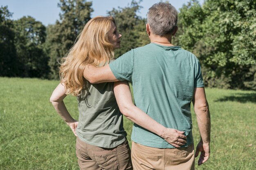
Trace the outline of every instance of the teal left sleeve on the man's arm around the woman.
<instances>
[{"instance_id":1,"label":"teal left sleeve on the man's arm around the woman","mask_svg":"<svg viewBox=\"0 0 256 170\"><path fill-rule=\"evenodd\" d=\"M132 71L134 64L134 51L128 51L121 57L109 64L112 73L119 81L132 81Z\"/></svg>"}]
</instances>

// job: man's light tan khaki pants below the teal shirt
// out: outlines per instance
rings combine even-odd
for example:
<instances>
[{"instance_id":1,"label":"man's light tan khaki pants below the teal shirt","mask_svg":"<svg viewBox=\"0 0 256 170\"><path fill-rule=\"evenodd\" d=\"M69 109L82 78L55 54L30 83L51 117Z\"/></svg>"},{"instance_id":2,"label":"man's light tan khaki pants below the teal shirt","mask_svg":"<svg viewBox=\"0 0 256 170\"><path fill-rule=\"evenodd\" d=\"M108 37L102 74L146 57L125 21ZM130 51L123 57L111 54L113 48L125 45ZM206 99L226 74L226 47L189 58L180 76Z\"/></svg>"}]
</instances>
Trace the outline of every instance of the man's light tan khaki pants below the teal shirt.
<instances>
[{"instance_id":1,"label":"man's light tan khaki pants below the teal shirt","mask_svg":"<svg viewBox=\"0 0 256 170\"><path fill-rule=\"evenodd\" d=\"M185 148L152 148L132 142L134 170L194 170L194 144Z\"/></svg>"}]
</instances>

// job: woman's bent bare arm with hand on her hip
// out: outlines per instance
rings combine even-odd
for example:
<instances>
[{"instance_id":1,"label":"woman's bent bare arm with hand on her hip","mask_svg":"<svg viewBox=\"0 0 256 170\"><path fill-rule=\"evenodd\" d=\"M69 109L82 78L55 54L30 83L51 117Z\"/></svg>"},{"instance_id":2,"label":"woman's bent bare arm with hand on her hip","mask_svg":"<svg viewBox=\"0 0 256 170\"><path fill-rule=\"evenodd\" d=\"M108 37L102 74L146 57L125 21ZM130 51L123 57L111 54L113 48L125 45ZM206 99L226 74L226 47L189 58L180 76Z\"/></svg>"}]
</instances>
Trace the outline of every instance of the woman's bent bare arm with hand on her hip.
<instances>
[{"instance_id":1,"label":"woman's bent bare arm with hand on her hip","mask_svg":"<svg viewBox=\"0 0 256 170\"><path fill-rule=\"evenodd\" d=\"M50 102L54 106L55 110L61 116L61 118L66 122L68 126L70 126L71 130L73 131L74 135L76 135L76 127L78 125L78 121L73 119L70 113L67 111L67 108L63 102L63 99L67 95L65 94L65 87L60 83L52 92L52 96L50 98Z\"/></svg>"}]
</instances>

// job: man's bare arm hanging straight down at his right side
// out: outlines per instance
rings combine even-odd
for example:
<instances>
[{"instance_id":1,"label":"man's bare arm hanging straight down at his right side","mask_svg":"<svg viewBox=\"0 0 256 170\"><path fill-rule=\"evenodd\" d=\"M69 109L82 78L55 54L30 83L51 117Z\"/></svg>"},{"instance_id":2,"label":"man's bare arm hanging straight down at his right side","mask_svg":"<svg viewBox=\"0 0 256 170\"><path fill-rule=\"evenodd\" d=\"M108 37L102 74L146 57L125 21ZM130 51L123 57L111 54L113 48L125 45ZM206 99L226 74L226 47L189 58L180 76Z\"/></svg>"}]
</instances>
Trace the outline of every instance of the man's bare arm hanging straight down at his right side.
<instances>
[{"instance_id":1,"label":"man's bare arm hanging straight down at his right side","mask_svg":"<svg viewBox=\"0 0 256 170\"><path fill-rule=\"evenodd\" d=\"M198 160L198 165L201 165L202 163L206 162L210 156L211 132L210 112L204 87L194 89L193 105L201 135L201 140L196 147L195 157L197 157L199 152L201 152Z\"/></svg>"}]
</instances>

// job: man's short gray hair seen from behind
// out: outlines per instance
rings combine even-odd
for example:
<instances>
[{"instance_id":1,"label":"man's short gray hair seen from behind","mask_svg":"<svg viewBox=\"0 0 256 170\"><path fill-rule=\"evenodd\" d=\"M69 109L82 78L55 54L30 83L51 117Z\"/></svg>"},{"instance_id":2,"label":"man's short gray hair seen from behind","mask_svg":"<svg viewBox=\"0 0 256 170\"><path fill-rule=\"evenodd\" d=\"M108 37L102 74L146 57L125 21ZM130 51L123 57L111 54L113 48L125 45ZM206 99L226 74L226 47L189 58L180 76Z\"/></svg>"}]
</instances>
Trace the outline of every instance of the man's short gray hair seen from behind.
<instances>
[{"instance_id":1,"label":"man's short gray hair seen from behind","mask_svg":"<svg viewBox=\"0 0 256 170\"><path fill-rule=\"evenodd\" d=\"M159 2L148 9L148 24L155 35L170 35L177 25L178 14L171 4Z\"/></svg>"}]
</instances>

